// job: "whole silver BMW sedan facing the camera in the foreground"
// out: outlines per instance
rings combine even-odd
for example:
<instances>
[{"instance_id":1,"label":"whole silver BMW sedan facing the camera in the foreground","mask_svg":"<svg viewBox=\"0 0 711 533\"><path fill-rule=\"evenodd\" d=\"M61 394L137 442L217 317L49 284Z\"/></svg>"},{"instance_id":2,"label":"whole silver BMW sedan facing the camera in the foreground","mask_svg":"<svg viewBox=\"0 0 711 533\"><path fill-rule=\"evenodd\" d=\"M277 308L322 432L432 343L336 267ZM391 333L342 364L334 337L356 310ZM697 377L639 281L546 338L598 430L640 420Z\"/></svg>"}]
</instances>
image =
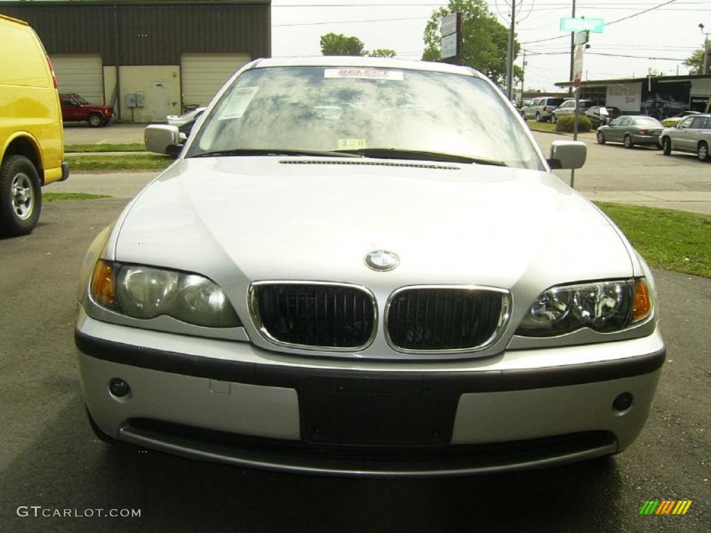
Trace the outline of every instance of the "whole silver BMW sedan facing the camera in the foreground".
<instances>
[{"instance_id":1,"label":"whole silver BMW sedan facing the camera in the foreground","mask_svg":"<svg viewBox=\"0 0 711 533\"><path fill-rule=\"evenodd\" d=\"M146 129L161 151L178 139ZM648 266L551 172L585 156L557 140L545 159L469 68L245 65L82 262L92 427L341 475L624 450L665 347Z\"/></svg>"}]
</instances>

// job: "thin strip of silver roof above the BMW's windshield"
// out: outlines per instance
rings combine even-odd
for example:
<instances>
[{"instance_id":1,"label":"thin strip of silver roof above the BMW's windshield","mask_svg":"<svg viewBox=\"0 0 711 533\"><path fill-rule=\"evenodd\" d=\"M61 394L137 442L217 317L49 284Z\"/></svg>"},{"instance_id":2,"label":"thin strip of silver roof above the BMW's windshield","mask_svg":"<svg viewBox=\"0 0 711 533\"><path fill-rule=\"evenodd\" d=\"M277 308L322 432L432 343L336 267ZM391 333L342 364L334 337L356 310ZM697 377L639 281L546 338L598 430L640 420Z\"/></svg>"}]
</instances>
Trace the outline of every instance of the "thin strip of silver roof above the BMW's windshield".
<instances>
[{"instance_id":1,"label":"thin strip of silver roof above the BMW's windshield","mask_svg":"<svg viewBox=\"0 0 711 533\"><path fill-rule=\"evenodd\" d=\"M427 70L429 72L448 72L451 74L476 75L484 77L481 72L468 67L450 65L449 63L434 63L431 61L370 58L360 55L316 55L311 58L262 58L252 63L251 68L269 67L375 67L402 68L407 70Z\"/></svg>"}]
</instances>

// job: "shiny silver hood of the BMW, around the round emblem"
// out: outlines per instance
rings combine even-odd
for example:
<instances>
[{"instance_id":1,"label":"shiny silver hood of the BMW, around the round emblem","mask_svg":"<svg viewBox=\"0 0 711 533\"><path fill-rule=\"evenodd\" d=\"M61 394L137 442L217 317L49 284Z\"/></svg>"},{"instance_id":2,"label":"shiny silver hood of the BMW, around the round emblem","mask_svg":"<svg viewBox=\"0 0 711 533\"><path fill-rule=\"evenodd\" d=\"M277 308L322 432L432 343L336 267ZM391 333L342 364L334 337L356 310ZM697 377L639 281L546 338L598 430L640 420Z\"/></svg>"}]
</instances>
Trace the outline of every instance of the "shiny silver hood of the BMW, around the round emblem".
<instances>
[{"instance_id":1,"label":"shiny silver hood of the BMW, around the round emblem","mask_svg":"<svg viewBox=\"0 0 711 533\"><path fill-rule=\"evenodd\" d=\"M117 224L115 259L265 279L539 288L634 275L631 248L546 172L377 159L178 160ZM400 257L375 271L368 252ZM533 289L533 288L532 288Z\"/></svg>"}]
</instances>

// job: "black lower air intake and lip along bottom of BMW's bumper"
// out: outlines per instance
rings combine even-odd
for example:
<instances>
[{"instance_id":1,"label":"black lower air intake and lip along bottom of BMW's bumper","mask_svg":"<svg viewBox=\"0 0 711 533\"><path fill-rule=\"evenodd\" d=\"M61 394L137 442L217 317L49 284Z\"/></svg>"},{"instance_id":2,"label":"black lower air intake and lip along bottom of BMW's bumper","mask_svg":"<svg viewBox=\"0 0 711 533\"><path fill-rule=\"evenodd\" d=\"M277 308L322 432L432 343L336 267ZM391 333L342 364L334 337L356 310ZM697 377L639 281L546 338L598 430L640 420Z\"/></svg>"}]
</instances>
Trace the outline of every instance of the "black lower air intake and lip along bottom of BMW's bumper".
<instances>
[{"instance_id":1,"label":"black lower air intake and lip along bottom of BMW's bumper","mask_svg":"<svg viewBox=\"0 0 711 533\"><path fill-rule=\"evenodd\" d=\"M441 448L318 446L256 438L150 419L132 419L120 438L193 459L321 475L470 475L572 463L618 451L606 431Z\"/></svg>"}]
</instances>

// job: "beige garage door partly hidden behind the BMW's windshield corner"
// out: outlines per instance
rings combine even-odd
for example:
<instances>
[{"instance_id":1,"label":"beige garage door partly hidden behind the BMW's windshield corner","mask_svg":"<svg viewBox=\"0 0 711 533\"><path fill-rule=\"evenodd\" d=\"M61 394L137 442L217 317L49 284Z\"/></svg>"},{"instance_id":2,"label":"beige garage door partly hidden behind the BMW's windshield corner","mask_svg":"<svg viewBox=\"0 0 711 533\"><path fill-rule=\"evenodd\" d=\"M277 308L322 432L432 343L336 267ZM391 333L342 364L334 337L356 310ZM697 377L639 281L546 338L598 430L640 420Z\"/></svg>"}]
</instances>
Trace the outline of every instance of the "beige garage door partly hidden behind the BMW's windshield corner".
<instances>
[{"instance_id":1,"label":"beige garage door partly hidden behind the BMW's windshield corner","mask_svg":"<svg viewBox=\"0 0 711 533\"><path fill-rule=\"evenodd\" d=\"M183 54L183 105L210 103L220 87L250 59L247 54Z\"/></svg>"}]
</instances>

